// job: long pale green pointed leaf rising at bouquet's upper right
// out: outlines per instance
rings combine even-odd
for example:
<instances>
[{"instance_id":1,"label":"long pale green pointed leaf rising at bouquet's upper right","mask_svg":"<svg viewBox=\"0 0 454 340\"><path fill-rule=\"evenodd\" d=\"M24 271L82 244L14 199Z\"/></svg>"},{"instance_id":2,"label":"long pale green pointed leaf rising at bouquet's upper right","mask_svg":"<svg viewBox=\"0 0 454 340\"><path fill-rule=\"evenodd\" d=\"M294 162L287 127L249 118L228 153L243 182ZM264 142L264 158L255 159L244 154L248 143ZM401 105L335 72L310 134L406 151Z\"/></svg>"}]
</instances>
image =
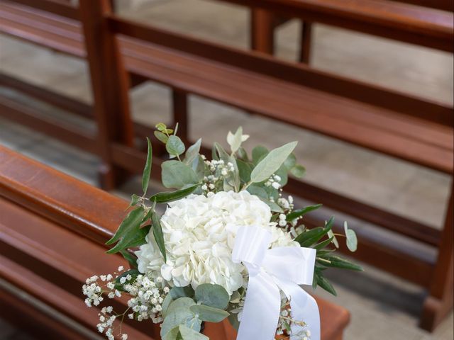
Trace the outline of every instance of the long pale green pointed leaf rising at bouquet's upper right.
<instances>
[{"instance_id":1,"label":"long pale green pointed leaf rising at bouquet's upper right","mask_svg":"<svg viewBox=\"0 0 454 340\"><path fill-rule=\"evenodd\" d=\"M270 153L255 166L252 174L250 174L250 181L259 183L270 178L270 176L284 163L285 159L289 157L289 154L292 153L294 148L297 147L297 144L298 142L290 142L270 151Z\"/></svg>"}]
</instances>

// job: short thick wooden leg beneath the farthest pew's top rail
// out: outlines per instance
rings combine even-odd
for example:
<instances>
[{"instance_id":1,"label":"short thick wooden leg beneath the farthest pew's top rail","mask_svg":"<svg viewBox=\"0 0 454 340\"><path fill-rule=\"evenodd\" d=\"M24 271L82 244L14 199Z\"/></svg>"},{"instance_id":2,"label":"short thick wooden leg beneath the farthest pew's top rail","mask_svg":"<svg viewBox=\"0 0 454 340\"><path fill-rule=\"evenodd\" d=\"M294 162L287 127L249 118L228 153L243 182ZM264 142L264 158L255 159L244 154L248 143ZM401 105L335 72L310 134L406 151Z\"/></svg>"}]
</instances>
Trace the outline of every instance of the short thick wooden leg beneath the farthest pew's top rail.
<instances>
[{"instance_id":1,"label":"short thick wooden leg beneath the farthest pew's top rail","mask_svg":"<svg viewBox=\"0 0 454 340\"><path fill-rule=\"evenodd\" d=\"M275 51L275 15L261 8L250 9L250 48L272 55Z\"/></svg>"}]
</instances>

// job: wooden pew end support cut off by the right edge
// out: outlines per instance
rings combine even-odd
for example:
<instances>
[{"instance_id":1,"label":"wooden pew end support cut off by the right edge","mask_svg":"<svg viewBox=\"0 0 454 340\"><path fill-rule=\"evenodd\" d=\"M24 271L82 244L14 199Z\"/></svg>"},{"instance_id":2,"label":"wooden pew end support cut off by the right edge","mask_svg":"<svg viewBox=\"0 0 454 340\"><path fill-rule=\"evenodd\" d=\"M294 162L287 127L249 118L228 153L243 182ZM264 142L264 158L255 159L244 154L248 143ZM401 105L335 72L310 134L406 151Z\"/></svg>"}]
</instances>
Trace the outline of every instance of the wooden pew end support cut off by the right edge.
<instances>
[{"instance_id":1,"label":"wooden pew end support cut off by the right edge","mask_svg":"<svg viewBox=\"0 0 454 340\"><path fill-rule=\"evenodd\" d=\"M438 247L438 259L419 321L420 327L427 331L433 331L453 308L453 209L453 189L451 188L448 212Z\"/></svg>"}]
</instances>

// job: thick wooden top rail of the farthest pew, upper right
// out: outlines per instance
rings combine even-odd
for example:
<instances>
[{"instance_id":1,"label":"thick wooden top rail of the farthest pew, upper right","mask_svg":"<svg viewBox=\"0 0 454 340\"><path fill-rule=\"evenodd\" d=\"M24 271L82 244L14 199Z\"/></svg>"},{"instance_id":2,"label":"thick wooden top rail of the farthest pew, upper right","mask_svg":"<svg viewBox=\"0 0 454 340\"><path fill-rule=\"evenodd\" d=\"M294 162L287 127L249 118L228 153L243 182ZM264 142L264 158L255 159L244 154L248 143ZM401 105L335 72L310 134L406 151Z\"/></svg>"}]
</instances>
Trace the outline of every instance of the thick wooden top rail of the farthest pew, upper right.
<instances>
[{"instance_id":1,"label":"thick wooden top rail of the farthest pew, upper right","mask_svg":"<svg viewBox=\"0 0 454 340\"><path fill-rule=\"evenodd\" d=\"M388 0L228 0L290 18L453 52L453 13Z\"/></svg>"}]
</instances>

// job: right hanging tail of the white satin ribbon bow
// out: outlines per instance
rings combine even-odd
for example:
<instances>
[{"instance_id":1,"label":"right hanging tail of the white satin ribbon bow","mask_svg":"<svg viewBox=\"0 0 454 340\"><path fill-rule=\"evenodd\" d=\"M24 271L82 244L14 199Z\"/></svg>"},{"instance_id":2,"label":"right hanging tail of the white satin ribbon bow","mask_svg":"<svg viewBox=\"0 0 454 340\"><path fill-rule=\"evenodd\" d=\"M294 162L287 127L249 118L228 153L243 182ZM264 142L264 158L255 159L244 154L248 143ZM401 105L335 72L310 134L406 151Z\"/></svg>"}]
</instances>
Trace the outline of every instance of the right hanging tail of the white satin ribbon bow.
<instances>
[{"instance_id":1,"label":"right hanging tail of the white satin ribbon bow","mask_svg":"<svg viewBox=\"0 0 454 340\"><path fill-rule=\"evenodd\" d=\"M290 298L292 319L303 321L307 324L306 327L292 324L292 334L294 335L290 336L290 340L301 339L301 336L298 336L298 334L304 331L304 329L308 329L311 332L311 340L320 340L320 312L314 297L296 283L279 280L278 285L284 294Z\"/></svg>"}]
</instances>

